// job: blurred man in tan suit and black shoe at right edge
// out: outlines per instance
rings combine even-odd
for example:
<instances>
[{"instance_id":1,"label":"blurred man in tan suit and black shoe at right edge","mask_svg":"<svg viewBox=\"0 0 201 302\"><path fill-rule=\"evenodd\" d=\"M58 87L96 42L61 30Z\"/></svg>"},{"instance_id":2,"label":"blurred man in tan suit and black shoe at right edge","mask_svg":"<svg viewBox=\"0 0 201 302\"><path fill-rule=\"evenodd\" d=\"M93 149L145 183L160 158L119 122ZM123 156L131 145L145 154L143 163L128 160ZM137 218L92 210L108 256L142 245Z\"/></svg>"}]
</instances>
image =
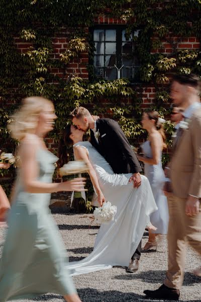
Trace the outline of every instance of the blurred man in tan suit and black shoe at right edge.
<instances>
[{"instance_id":1,"label":"blurred man in tan suit and black shoe at right edge","mask_svg":"<svg viewBox=\"0 0 201 302\"><path fill-rule=\"evenodd\" d=\"M170 162L172 184L169 203L168 271L157 290L145 290L152 298L177 300L183 283L185 247L188 243L201 255L201 105L200 79L194 74L176 75L170 97L184 109L173 142ZM195 271L201 275L201 268Z\"/></svg>"}]
</instances>

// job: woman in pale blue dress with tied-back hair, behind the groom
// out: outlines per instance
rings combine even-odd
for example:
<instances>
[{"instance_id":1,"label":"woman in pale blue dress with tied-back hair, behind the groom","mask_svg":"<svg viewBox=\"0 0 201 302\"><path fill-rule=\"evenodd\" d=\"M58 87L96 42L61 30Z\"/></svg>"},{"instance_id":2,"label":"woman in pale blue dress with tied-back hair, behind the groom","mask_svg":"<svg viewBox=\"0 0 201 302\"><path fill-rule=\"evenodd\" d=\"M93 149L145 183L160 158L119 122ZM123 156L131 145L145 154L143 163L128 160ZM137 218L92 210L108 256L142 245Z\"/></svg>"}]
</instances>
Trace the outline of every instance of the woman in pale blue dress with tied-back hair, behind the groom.
<instances>
[{"instance_id":1,"label":"woman in pale blue dress with tied-back hair, behind the groom","mask_svg":"<svg viewBox=\"0 0 201 302\"><path fill-rule=\"evenodd\" d=\"M162 150L166 148L165 134L162 119L157 111L143 113L142 127L148 132L148 139L141 145L144 156L137 155L138 160L143 162L145 176L148 178L158 210L150 215L151 223L157 230L149 230L149 239L144 246L144 251L157 250L157 234L167 234L168 229L168 206L167 199L163 194L164 172L162 168Z\"/></svg>"}]
</instances>

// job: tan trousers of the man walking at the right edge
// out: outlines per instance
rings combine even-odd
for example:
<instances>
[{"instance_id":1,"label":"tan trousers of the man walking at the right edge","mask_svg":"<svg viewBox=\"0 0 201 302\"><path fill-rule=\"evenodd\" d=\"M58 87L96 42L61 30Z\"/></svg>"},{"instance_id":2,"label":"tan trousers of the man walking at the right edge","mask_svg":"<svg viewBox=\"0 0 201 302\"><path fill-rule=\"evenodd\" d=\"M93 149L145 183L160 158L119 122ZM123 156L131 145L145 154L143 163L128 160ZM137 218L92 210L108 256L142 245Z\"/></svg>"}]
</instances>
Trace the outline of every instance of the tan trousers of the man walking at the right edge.
<instances>
[{"instance_id":1,"label":"tan trousers of the man walking at the right edge","mask_svg":"<svg viewBox=\"0 0 201 302\"><path fill-rule=\"evenodd\" d=\"M186 243L201 255L201 207L197 215L187 216L185 202L174 195L168 197L168 270L164 284L176 289L183 283Z\"/></svg>"}]
</instances>

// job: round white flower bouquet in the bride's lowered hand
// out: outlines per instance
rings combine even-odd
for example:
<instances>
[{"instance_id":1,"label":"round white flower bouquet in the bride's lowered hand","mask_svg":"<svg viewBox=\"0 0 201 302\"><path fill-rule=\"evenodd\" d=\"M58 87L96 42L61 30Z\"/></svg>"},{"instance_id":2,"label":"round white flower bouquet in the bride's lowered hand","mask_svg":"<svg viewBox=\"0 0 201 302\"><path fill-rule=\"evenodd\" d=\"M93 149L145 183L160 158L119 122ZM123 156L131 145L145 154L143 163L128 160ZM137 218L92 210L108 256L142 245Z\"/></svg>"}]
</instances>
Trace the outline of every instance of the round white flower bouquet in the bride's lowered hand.
<instances>
[{"instance_id":1,"label":"round white flower bouquet in the bride's lowered hand","mask_svg":"<svg viewBox=\"0 0 201 302\"><path fill-rule=\"evenodd\" d=\"M112 205L109 201L104 202L102 207L96 207L93 211L94 219L101 223L107 223L114 220L116 213L116 205Z\"/></svg>"}]
</instances>

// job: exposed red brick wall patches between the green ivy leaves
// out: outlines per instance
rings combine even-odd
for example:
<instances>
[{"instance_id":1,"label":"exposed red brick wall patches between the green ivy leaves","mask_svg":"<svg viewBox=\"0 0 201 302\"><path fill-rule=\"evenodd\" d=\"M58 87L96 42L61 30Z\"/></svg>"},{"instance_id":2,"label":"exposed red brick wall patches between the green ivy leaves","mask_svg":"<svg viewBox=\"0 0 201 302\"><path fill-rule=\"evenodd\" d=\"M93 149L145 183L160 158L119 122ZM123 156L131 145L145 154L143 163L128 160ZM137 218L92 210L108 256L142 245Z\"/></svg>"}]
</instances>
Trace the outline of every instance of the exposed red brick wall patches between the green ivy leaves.
<instances>
[{"instance_id":1,"label":"exposed red brick wall patches between the green ivy leaves","mask_svg":"<svg viewBox=\"0 0 201 302\"><path fill-rule=\"evenodd\" d=\"M95 19L96 24L106 24L106 25L119 25L119 24L125 24L124 20L118 20L116 18L109 18L107 16L100 16L97 19ZM85 29L86 33L88 32L88 29ZM59 33L57 33L54 37L52 37L52 47L53 52L51 53L52 59L60 59L60 54L62 54L66 49L68 45L68 36L69 31L65 28L62 28ZM154 37L153 39L157 39L157 37ZM25 42L21 40L19 37L15 37L14 39L15 45L17 50L20 53L27 52L30 47L32 46L32 43ZM151 53L158 53L162 52L165 54L171 54L175 49L198 49L200 47L200 41L196 37L187 37L187 38L179 38L172 36L169 34L163 41L163 48L162 49L152 49ZM74 74L78 77L81 77L83 79L88 79L88 71L87 66L88 64L88 53L81 53L79 55L79 58L73 59L67 67L64 68L52 68L51 73L54 75L57 75L60 78L67 79L71 74ZM155 98L155 88L151 84L145 84L142 92L142 107L143 108L149 108L150 105L153 102L153 99ZM107 100L103 100L103 103ZM108 112L110 114L110 112ZM53 141L51 138L46 138L46 144L51 152L55 152L57 150L57 144ZM56 181L61 181L59 178L56 179ZM69 203L69 194L63 194L60 193L54 194L53 198L60 198L60 199L68 199Z\"/></svg>"}]
</instances>

